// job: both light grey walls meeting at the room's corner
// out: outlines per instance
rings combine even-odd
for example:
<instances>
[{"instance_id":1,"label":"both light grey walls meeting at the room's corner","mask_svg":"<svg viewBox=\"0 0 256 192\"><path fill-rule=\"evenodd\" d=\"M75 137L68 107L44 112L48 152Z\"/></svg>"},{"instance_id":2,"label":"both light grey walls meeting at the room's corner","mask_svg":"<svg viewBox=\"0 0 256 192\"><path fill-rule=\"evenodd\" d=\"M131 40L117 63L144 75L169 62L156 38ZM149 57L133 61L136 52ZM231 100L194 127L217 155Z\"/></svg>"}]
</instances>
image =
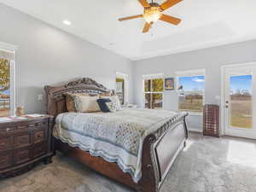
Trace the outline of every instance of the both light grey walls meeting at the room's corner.
<instances>
[{"instance_id":1,"label":"both light grey walls meeting at the room's corner","mask_svg":"<svg viewBox=\"0 0 256 192\"><path fill-rule=\"evenodd\" d=\"M45 112L45 98L39 102L37 97L46 84L90 77L114 89L116 71L129 75L128 102L143 107L143 74L174 77L177 71L206 68L206 103L219 103L220 67L256 61L256 40L132 62L1 3L0 23L0 42L19 46L16 97L26 113ZM165 91L164 108L177 110L176 91ZM201 128L201 117L190 116L189 126Z\"/></svg>"}]
</instances>

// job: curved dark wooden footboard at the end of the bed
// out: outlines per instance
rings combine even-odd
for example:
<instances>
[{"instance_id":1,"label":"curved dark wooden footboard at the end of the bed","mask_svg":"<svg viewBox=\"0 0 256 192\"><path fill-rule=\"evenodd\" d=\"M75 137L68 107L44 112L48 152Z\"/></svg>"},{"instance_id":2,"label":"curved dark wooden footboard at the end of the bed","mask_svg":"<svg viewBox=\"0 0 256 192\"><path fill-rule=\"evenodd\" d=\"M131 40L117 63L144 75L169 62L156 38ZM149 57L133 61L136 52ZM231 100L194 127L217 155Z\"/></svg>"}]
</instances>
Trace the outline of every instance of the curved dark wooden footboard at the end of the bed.
<instances>
[{"instance_id":1,"label":"curved dark wooden footboard at the end of the bed","mask_svg":"<svg viewBox=\"0 0 256 192\"><path fill-rule=\"evenodd\" d=\"M137 184L137 191L159 191L177 154L185 147L185 141L188 137L186 115L181 114L172 122L172 126L166 130L156 131L145 138L143 143L143 177ZM170 137L172 134L174 136ZM175 143L175 146L170 146L168 143Z\"/></svg>"}]
</instances>

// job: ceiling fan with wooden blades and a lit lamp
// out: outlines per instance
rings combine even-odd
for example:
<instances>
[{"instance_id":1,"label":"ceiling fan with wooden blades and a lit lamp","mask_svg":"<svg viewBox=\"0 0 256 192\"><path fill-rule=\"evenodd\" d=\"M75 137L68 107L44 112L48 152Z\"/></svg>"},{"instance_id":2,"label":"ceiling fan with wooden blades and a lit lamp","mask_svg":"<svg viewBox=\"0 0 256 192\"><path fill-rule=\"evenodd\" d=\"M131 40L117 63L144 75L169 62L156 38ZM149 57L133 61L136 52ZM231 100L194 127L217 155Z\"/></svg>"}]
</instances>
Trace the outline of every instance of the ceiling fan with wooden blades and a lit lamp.
<instances>
[{"instance_id":1,"label":"ceiling fan with wooden blades and a lit lamp","mask_svg":"<svg viewBox=\"0 0 256 192\"><path fill-rule=\"evenodd\" d=\"M143 15L133 15L129 17L120 18L119 21L124 20L132 20L137 18L144 18L146 20L146 24L143 28L143 33L148 32L150 27L157 21L157 20L163 20L168 23L171 23L173 25L178 25L180 23L180 19L170 16L170 15L164 15L161 12L163 12L166 9L171 8L175 4L183 1L183 0L167 0L165 3L159 4L154 3L153 0L151 3L148 3L147 0L138 0L139 3L144 8Z\"/></svg>"}]
</instances>

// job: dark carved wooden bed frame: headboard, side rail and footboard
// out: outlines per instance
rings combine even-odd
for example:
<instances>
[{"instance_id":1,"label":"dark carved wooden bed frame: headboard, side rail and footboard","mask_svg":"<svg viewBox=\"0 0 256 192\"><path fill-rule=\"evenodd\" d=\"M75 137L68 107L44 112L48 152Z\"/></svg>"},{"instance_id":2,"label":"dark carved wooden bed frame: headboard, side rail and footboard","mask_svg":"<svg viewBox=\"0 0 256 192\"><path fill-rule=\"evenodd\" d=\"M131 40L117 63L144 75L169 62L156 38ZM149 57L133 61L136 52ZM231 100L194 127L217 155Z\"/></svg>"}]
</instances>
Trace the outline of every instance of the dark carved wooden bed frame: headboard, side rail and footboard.
<instances>
[{"instance_id":1,"label":"dark carved wooden bed frame: headboard, side rail and footboard","mask_svg":"<svg viewBox=\"0 0 256 192\"><path fill-rule=\"evenodd\" d=\"M102 93L109 92L102 84L92 79L78 79L67 84L45 87L48 101L48 113L56 116L67 112L65 97L67 92ZM148 135L143 142L142 178L134 183L131 175L121 171L116 163L110 163L101 157L93 157L80 148L72 148L67 143L55 139L55 149L63 154L89 166L96 172L101 172L119 183L123 183L137 191L158 192L170 171L177 154L185 146L188 137L185 117L187 113L180 113L172 122L166 122L158 131Z\"/></svg>"}]
</instances>

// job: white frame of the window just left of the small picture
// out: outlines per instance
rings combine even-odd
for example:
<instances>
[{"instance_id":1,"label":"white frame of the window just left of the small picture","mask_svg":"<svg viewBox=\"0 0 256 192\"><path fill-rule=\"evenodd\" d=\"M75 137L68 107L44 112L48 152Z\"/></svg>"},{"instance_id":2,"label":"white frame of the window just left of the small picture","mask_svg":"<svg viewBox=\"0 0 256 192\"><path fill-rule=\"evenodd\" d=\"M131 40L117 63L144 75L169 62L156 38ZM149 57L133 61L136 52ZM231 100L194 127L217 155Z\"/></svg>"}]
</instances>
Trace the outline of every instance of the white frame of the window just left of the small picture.
<instances>
[{"instance_id":1,"label":"white frame of the window just left of the small picture","mask_svg":"<svg viewBox=\"0 0 256 192\"><path fill-rule=\"evenodd\" d=\"M145 91L145 80L153 80L153 79L163 79L163 91ZM150 84L150 90L153 90L153 84ZM165 92L165 78L163 73L156 73L156 74L147 74L143 75L143 108L145 108L145 96L146 94L161 94L162 95L162 108L164 108L164 92ZM150 97L152 100L152 96ZM150 109L152 109L152 101L150 101Z\"/></svg>"}]
</instances>

